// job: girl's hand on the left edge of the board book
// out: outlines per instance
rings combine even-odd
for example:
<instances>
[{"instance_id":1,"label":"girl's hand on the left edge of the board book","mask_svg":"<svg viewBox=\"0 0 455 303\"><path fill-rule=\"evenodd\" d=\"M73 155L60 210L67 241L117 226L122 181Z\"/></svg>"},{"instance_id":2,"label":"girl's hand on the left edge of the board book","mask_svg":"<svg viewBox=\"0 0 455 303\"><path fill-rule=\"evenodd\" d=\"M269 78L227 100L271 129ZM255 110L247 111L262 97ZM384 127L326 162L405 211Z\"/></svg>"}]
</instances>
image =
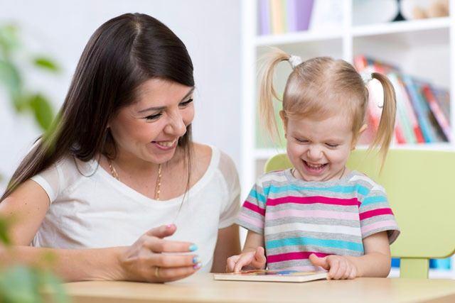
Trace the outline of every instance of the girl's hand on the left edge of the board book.
<instances>
[{"instance_id":1,"label":"girl's hand on the left edge of the board book","mask_svg":"<svg viewBox=\"0 0 455 303\"><path fill-rule=\"evenodd\" d=\"M244 266L248 269L263 270L267 264L264 248L258 246L255 251L232 255L226 263L226 272L240 272Z\"/></svg>"}]
</instances>

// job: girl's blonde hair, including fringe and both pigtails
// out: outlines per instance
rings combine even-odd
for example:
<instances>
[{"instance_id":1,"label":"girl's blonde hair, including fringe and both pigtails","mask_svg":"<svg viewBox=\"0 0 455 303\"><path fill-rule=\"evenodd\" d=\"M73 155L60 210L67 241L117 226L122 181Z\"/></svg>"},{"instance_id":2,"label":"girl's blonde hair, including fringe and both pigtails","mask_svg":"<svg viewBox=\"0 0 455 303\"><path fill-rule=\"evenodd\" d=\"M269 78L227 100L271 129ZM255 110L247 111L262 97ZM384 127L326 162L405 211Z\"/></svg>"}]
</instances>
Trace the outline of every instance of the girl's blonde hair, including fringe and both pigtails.
<instances>
[{"instance_id":1,"label":"girl's blonde hair, including fringe and both pigtails","mask_svg":"<svg viewBox=\"0 0 455 303\"><path fill-rule=\"evenodd\" d=\"M259 70L259 114L265 127L275 138L278 129L272 100L280 98L273 86L274 71L279 62L289 61L290 58L291 55L274 48L263 58ZM380 148L383 164L395 127L395 90L384 75L373 72L371 77L378 79L384 90L378 131L370 145L370 148ZM356 141L360 128L365 123L368 88L348 62L331 57L315 57L293 68L287 79L282 102L284 123L291 116L326 119L336 114L346 114L352 119L353 140Z\"/></svg>"}]
</instances>

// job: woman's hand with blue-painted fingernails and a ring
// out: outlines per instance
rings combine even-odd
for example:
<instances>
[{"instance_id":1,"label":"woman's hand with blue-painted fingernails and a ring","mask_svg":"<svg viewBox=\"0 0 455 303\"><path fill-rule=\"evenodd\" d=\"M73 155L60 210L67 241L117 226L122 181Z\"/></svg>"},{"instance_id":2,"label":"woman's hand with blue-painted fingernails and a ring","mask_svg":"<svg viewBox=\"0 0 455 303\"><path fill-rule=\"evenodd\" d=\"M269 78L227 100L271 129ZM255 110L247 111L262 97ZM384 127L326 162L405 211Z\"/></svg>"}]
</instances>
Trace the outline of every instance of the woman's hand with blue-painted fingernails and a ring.
<instances>
[{"instance_id":1,"label":"woman's hand with blue-painted fingernails and a ring","mask_svg":"<svg viewBox=\"0 0 455 303\"><path fill-rule=\"evenodd\" d=\"M197 255L175 253L190 252L197 247L189 242L163 239L175 233L176 229L173 224L151 229L127 247L119 257L122 280L168 282L196 272L201 266Z\"/></svg>"}]
</instances>

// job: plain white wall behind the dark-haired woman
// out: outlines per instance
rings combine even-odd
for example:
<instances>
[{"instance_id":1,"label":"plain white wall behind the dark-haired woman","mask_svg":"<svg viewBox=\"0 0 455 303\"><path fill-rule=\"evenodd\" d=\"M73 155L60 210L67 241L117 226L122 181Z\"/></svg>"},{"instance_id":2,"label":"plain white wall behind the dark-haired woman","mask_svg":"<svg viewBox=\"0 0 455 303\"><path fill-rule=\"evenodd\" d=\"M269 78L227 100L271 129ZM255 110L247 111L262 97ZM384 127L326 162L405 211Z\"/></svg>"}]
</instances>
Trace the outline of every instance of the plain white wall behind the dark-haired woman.
<instances>
[{"instance_id":1,"label":"plain white wall behind the dark-haired woman","mask_svg":"<svg viewBox=\"0 0 455 303\"><path fill-rule=\"evenodd\" d=\"M82 49L95 29L121 13L147 13L171 28L193 59L198 94L195 141L218 146L240 162L240 0L1 1L0 23L21 28L24 44L55 58L58 75L28 71L58 109ZM17 116L0 87L0 174L9 177L39 135L31 117ZM0 182L0 192L6 180Z\"/></svg>"}]
</instances>

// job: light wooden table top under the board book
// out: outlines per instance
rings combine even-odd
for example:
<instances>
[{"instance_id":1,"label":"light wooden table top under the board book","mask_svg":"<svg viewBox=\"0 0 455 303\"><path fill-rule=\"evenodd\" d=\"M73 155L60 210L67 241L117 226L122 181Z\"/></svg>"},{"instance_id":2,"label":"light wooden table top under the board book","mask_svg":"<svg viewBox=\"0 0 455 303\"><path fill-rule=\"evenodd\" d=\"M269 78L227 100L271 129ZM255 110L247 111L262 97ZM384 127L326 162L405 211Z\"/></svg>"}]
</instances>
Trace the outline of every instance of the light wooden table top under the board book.
<instances>
[{"instance_id":1,"label":"light wooden table top under the board book","mask_svg":"<svg viewBox=\"0 0 455 303\"><path fill-rule=\"evenodd\" d=\"M215 281L196 274L167 284L73 282L77 302L455 302L455 280L357 278L306 283Z\"/></svg>"}]
</instances>

